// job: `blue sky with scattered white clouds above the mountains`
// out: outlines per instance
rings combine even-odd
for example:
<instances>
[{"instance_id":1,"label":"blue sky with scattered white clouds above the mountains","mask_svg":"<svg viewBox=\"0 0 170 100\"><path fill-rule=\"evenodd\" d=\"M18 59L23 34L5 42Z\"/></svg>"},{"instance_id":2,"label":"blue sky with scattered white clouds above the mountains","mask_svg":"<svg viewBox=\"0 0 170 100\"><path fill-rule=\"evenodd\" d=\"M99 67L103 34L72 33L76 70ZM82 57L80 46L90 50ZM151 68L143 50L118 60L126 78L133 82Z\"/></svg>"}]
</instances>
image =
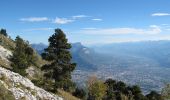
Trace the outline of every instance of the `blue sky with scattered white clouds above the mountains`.
<instances>
[{"instance_id":1,"label":"blue sky with scattered white clouds above the mountains","mask_svg":"<svg viewBox=\"0 0 170 100\"><path fill-rule=\"evenodd\" d=\"M170 0L1 0L0 28L48 44L61 28L84 45L170 40Z\"/></svg>"}]
</instances>

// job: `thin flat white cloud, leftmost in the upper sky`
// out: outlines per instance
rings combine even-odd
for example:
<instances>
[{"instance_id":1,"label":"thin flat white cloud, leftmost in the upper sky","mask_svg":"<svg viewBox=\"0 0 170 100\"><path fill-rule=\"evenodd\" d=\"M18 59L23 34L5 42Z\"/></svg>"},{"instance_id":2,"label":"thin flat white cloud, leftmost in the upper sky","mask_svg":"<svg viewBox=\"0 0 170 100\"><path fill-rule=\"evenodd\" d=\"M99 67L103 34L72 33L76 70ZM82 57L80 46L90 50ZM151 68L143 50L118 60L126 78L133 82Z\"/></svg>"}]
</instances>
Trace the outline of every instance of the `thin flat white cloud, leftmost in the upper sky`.
<instances>
[{"instance_id":1,"label":"thin flat white cloud, leftmost in the upper sky","mask_svg":"<svg viewBox=\"0 0 170 100\"><path fill-rule=\"evenodd\" d=\"M42 22L42 21L48 21L49 19L47 17L29 17L29 18L21 18L20 21L23 22Z\"/></svg>"}]
</instances>

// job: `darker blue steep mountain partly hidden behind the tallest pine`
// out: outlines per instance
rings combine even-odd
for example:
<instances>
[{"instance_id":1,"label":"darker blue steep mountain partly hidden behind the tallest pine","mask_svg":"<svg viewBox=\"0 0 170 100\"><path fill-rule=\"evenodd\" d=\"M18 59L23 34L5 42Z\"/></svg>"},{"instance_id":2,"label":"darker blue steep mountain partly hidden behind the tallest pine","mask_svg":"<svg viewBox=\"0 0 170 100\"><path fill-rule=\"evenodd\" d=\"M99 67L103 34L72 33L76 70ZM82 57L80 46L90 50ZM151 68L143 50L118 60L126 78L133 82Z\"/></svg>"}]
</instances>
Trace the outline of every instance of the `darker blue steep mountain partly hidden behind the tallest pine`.
<instances>
[{"instance_id":1,"label":"darker blue steep mountain partly hidden behind the tallest pine","mask_svg":"<svg viewBox=\"0 0 170 100\"><path fill-rule=\"evenodd\" d=\"M39 54L43 53L44 49L48 46L40 44L31 45ZM92 49L83 46L81 43L73 43L71 48L71 53L73 57L73 62L77 63L77 68L79 70L96 70L96 54Z\"/></svg>"}]
</instances>

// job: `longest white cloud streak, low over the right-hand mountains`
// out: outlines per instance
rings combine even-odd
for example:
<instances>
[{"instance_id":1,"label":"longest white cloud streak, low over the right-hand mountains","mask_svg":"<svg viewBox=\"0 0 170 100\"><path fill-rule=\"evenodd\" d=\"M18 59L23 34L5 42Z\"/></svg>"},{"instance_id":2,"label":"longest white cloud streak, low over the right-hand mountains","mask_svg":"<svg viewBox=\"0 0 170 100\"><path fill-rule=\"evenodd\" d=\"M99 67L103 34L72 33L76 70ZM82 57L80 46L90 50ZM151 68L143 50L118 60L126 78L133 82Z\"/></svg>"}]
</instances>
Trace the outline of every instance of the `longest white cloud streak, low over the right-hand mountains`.
<instances>
[{"instance_id":1,"label":"longest white cloud streak, low over the right-hand mountains","mask_svg":"<svg viewBox=\"0 0 170 100\"><path fill-rule=\"evenodd\" d=\"M139 28L106 28L106 29L90 29L81 30L80 33L97 34L97 35L123 35L123 34L159 34L161 29L159 26L151 25L148 29Z\"/></svg>"}]
</instances>

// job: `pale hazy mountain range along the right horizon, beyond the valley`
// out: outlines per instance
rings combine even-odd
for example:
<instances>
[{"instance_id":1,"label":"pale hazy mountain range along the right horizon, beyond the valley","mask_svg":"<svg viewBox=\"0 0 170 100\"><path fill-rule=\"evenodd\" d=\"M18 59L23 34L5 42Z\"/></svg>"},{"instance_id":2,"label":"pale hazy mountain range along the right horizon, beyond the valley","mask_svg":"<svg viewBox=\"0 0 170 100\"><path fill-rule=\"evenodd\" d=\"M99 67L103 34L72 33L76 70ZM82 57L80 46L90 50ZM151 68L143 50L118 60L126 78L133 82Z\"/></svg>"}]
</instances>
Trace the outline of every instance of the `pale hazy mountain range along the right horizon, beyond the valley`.
<instances>
[{"instance_id":1,"label":"pale hazy mountain range along the right horizon, beyond the valley","mask_svg":"<svg viewBox=\"0 0 170 100\"><path fill-rule=\"evenodd\" d=\"M96 52L112 56L137 56L152 59L161 67L170 68L170 41L113 43L92 47Z\"/></svg>"}]
</instances>

